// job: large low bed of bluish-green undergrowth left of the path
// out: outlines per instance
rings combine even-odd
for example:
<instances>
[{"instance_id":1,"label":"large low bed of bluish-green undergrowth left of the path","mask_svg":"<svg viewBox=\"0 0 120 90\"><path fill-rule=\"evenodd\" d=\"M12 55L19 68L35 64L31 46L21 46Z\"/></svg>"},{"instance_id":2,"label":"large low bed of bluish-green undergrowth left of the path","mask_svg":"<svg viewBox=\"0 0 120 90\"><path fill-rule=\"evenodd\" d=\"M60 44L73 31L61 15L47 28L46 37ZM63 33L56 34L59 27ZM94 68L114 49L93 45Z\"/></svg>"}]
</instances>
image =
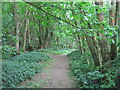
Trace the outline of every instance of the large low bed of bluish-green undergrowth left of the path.
<instances>
[{"instance_id":1,"label":"large low bed of bluish-green undergrowth left of the path","mask_svg":"<svg viewBox=\"0 0 120 90\"><path fill-rule=\"evenodd\" d=\"M43 52L27 52L2 62L2 87L15 88L20 82L32 79L43 70L51 57Z\"/></svg>"}]
</instances>

